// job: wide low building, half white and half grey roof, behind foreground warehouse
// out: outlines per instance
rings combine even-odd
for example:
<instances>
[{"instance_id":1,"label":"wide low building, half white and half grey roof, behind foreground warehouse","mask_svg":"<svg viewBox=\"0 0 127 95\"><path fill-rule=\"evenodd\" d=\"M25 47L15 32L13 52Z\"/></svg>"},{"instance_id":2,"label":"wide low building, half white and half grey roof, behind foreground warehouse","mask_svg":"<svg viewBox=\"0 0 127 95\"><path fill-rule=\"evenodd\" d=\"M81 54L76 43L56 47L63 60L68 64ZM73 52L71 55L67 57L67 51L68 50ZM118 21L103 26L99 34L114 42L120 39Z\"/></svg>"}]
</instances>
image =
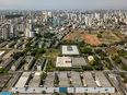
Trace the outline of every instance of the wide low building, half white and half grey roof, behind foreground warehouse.
<instances>
[{"instance_id":1,"label":"wide low building, half white and half grey roof, behind foreground warehouse","mask_svg":"<svg viewBox=\"0 0 127 95\"><path fill-rule=\"evenodd\" d=\"M57 57L56 67L81 68L82 66L89 66L83 57Z\"/></svg>"}]
</instances>

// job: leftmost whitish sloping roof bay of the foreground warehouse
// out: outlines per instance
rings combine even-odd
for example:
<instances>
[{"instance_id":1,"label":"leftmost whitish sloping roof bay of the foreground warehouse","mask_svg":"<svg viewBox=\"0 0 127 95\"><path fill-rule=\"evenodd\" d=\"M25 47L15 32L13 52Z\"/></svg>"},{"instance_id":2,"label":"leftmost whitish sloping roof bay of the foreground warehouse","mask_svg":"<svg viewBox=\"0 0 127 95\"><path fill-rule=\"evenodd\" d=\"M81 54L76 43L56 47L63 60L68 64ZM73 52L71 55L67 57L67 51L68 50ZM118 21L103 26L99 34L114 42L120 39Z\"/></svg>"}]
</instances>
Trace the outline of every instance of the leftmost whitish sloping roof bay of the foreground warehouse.
<instances>
[{"instance_id":1,"label":"leftmost whitish sloping roof bay of the foreground warehouse","mask_svg":"<svg viewBox=\"0 0 127 95\"><path fill-rule=\"evenodd\" d=\"M22 76L20 78L20 80L18 81L15 87L24 87L28 78L31 75L31 72L23 72Z\"/></svg>"}]
</instances>

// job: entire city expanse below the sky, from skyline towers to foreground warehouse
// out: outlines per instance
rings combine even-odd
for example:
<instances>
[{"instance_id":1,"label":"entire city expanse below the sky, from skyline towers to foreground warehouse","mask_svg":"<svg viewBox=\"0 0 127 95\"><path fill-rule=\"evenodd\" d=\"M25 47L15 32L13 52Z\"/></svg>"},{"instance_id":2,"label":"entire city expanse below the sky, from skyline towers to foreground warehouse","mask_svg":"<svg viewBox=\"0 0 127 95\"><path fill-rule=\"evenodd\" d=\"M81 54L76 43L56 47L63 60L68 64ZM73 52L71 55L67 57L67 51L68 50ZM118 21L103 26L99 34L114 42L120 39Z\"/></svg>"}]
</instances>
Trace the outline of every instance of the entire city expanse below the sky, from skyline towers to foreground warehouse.
<instances>
[{"instance_id":1,"label":"entire city expanse below the sky, from skyline towers to foreground warehouse","mask_svg":"<svg viewBox=\"0 0 127 95\"><path fill-rule=\"evenodd\" d=\"M1 95L127 95L127 11L0 11Z\"/></svg>"}]
</instances>

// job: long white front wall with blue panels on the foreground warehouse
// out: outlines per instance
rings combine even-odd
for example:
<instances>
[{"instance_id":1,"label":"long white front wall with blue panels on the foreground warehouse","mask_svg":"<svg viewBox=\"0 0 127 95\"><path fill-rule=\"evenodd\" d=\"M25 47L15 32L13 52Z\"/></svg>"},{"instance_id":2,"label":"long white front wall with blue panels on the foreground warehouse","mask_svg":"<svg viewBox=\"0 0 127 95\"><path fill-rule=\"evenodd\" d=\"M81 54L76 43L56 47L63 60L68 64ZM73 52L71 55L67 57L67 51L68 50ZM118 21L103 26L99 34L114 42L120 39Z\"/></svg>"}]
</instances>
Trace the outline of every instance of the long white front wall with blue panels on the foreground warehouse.
<instances>
[{"instance_id":1,"label":"long white front wall with blue panels on the foreground warehouse","mask_svg":"<svg viewBox=\"0 0 127 95\"><path fill-rule=\"evenodd\" d=\"M42 91L46 93L64 93L65 91L68 93L115 93L115 87L12 87L13 93L42 93Z\"/></svg>"}]
</instances>

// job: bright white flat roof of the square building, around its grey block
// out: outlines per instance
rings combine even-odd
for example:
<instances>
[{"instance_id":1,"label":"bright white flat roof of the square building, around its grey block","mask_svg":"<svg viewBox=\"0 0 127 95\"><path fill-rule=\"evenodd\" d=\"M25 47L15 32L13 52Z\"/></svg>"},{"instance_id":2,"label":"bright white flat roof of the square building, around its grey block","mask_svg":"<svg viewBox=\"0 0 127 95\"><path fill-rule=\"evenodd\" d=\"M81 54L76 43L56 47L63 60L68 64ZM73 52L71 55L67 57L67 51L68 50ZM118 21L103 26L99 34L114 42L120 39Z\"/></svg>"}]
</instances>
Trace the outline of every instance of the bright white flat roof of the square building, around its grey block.
<instances>
[{"instance_id":1,"label":"bright white flat roof of the square building, around its grey block","mask_svg":"<svg viewBox=\"0 0 127 95\"><path fill-rule=\"evenodd\" d=\"M62 55L80 55L78 47L76 45L70 45L72 50L68 50L68 45L61 46L61 54Z\"/></svg>"}]
</instances>

